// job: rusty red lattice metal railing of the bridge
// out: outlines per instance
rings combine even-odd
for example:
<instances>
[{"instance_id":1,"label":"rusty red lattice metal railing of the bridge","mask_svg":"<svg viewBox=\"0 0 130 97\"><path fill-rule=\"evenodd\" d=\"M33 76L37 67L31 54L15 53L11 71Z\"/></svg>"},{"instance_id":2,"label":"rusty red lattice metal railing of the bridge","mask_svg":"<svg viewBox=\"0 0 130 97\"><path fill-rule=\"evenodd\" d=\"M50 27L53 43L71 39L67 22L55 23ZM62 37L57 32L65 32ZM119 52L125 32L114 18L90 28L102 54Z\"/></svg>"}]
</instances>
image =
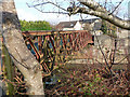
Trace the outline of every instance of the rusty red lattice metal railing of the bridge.
<instances>
[{"instance_id":1,"label":"rusty red lattice metal railing of the bridge","mask_svg":"<svg viewBox=\"0 0 130 97\"><path fill-rule=\"evenodd\" d=\"M53 70L53 66L69 60L75 52L88 43L93 43L87 30L24 31L23 36L28 48L47 72Z\"/></svg>"}]
</instances>

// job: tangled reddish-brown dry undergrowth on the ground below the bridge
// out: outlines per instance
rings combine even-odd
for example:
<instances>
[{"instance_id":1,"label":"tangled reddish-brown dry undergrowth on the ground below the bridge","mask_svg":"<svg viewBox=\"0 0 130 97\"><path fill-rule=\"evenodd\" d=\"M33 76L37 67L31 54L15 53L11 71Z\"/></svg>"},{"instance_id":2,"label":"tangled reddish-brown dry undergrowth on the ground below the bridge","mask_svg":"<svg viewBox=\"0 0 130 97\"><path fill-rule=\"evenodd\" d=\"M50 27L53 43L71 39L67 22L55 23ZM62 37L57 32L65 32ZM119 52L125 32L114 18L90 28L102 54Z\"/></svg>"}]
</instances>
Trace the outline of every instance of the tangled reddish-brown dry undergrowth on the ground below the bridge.
<instances>
[{"instance_id":1,"label":"tangled reddish-brown dry undergrowth on the ground below the bridge","mask_svg":"<svg viewBox=\"0 0 130 97\"><path fill-rule=\"evenodd\" d=\"M46 94L62 96L129 95L130 82L126 70L115 69L109 75L104 68L93 65L65 65L53 73L56 84L46 86ZM48 78L46 79L48 81Z\"/></svg>"}]
</instances>

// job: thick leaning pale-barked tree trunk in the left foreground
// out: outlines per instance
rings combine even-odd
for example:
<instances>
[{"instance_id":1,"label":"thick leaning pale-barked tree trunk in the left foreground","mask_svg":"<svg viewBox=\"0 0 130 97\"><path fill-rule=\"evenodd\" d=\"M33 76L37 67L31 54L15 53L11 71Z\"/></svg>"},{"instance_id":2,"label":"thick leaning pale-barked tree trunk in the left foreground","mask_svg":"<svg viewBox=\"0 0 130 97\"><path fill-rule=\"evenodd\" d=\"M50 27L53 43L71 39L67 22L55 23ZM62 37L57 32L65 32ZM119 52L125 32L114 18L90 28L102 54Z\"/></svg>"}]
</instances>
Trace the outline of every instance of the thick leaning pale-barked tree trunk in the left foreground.
<instances>
[{"instance_id":1,"label":"thick leaning pale-barked tree trunk in the left foreground","mask_svg":"<svg viewBox=\"0 0 130 97\"><path fill-rule=\"evenodd\" d=\"M44 95L40 64L25 45L14 0L2 1L2 36L13 63L23 73L29 95Z\"/></svg>"}]
</instances>

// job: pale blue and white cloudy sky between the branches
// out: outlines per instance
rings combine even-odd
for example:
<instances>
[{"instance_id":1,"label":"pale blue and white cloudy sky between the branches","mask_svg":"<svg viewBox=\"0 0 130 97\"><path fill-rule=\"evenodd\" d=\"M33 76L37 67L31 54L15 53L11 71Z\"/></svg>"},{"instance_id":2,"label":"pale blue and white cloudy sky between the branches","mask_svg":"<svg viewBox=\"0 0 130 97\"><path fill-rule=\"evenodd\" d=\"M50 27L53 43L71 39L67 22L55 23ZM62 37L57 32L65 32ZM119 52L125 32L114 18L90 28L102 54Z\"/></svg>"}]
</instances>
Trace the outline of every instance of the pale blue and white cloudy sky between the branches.
<instances>
[{"instance_id":1,"label":"pale blue and white cloudy sky between the branches","mask_svg":"<svg viewBox=\"0 0 130 97\"><path fill-rule=\"evenodd\" d=\"M30 2L32 2L32 0L14 0L14 1L15 1L15 5L16 5L16 10L17 10L17 14L18 14L20 19L47 20L47 22L50 22L51 24L57 24L58 22L65 22L65 20L81 19L81 17L79 15L74 15L74 16L69 17L68 15L63 15L63 14L57 15L57 14L41 13L34 8L27 6L26 3L30 4ZM102 1L102 0L100 0L100 1ZM120 0L115 0L115 1L117 2ZM123 3L121 4L121 14L127 12L128 1L129 0L123 0ZM68 0L66 0L66 2L68 2ZM66 4L68 4L68 3L66 3ZM62 5L65 6L65 3ZM53 10L54 8L50 4L48 4L48 6L46 6L46 10L48 10L48 9ZM87 17L87 15L83 15L83 17ZM87 18L91 18L91 16L88 16Z\"/></svg>"}]
</instances>

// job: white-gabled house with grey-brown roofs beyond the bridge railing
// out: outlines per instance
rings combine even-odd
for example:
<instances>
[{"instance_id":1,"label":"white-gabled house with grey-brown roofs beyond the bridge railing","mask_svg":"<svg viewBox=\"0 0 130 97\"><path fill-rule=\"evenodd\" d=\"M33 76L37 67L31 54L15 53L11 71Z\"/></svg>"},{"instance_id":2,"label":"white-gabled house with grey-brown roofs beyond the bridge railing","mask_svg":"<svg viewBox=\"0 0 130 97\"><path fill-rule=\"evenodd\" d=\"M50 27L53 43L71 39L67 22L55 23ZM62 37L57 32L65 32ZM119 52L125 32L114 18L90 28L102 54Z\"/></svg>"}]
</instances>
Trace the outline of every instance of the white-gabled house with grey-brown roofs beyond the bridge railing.
<instances>
[{"instance_id":1,"label":"white-gabled house with grey-brown roofs beyond the bridge railing","mask_svg":"<svg viewBox=\"0 0 130 97\"><path fill-rule=\"evenodd\" d=\"M95 23L99 23L99 18L92 18L92 19L82 19L82 20L73 20L73 22L61 22L57 26L57 30L92 30L92 29L100 29L101 24L96 25Z\"/></svg>"}]
</instances>

